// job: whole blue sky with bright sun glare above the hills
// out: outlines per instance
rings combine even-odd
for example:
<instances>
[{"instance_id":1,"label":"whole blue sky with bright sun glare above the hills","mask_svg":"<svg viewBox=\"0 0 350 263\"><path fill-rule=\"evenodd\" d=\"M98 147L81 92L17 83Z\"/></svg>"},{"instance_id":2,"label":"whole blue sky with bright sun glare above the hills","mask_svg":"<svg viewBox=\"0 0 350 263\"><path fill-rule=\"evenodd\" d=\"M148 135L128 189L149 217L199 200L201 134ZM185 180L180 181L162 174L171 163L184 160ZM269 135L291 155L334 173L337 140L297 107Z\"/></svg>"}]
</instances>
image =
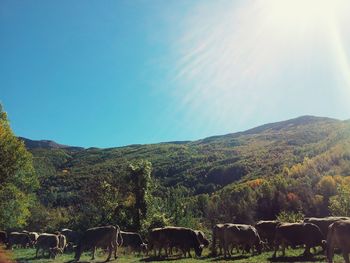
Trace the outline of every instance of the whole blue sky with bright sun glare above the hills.
<instances>
[{"instance_id":1,"label":"whole blue sky with bright sun glare above the hills","mask_svg":"<svg viewBox=\"0 0 350 263\"><path fill-rule=\"evenodd\" d=\"M85 147L348 119L349 4L305 1L2 0L0 101L17 135Z\"/></svg>"}]
</instances>

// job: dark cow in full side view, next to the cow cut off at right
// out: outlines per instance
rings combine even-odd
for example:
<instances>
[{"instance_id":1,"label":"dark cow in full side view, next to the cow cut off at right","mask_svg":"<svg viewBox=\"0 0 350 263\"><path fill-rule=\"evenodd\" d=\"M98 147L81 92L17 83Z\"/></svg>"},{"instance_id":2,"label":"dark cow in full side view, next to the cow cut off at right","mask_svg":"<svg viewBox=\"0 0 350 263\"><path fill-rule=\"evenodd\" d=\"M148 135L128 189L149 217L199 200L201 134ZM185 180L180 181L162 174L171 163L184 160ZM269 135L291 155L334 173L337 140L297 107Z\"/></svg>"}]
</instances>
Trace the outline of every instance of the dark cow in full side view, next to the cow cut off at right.
<instances>
[{"instance_id":1,"label":"dark cow in full side view, next to the cow cut off at right","mask_svg":"<svg viewBox=\"0 0 350 263\"><path fill-rule=\"evenodd\" d=\"M312 255L310 248L321 246L324 248L324 236L318 226L311 223L281 223L276 227L275 251L273 258L276 257L279 245L282 245L282 254L285 255L285 248L288 245L292 247L305 245L304 256Z\"/></svg>"}]
</instances>

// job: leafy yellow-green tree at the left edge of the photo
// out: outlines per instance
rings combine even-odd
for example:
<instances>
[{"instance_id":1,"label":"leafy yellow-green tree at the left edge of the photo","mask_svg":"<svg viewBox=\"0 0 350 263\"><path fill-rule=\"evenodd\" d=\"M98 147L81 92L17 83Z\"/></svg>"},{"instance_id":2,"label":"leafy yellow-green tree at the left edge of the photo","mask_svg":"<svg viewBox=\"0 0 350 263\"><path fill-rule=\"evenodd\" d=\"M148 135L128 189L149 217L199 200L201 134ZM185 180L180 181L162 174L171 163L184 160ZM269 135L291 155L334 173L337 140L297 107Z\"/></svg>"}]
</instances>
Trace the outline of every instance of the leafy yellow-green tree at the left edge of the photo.
<instances>
[{"instance_id":1,"label":"leafy yellow-green tree at the left edge of the photo","mask_svg":"<svg viewBox=\"0 0 350 263\"><path fill-rule=\"evenodd\" d=\"M0 105L0 228L25 225L38 186L32 155L13 134Z\"/></svg>"}]
</instances>

